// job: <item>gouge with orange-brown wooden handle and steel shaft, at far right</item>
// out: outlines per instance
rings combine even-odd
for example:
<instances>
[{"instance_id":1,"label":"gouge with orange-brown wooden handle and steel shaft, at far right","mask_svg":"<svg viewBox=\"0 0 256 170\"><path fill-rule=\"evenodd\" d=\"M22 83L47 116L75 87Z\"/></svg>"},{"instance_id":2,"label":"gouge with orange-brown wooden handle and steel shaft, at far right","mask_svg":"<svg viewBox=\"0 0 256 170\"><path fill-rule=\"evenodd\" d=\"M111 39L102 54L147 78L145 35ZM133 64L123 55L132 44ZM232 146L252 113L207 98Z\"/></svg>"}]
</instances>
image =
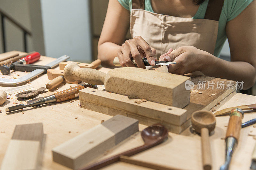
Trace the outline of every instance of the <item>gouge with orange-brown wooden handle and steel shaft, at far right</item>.
<instances>
[{"instance_id":1,"label":"gouge with orange-brown wooden handle and steel shaft, at far right","mask_svg":"<svg viewBox=\"0 0 256 170\"><path fill-rule=\"evenodd\" d=\"M243 110L236 108L230 111L230 118L228 121L228 129L226 132L226 162L220 166L220 170L228 170L231 157L236 148L240 130L241 122L244 117Z\"/></svg>"}]
</instances>

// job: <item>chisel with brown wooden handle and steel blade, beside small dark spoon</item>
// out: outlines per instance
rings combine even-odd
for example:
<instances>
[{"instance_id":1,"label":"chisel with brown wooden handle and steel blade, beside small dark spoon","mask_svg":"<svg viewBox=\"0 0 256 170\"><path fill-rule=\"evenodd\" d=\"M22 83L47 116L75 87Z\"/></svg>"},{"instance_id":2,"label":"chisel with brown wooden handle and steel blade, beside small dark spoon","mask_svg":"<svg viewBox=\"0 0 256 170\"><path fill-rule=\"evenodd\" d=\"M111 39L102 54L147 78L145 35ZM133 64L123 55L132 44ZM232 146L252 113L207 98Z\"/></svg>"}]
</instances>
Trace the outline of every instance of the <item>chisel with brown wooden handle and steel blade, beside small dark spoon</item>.
<instances>
[{"instance_id":1,"label":"chisel with brown wooden handle and steel blade, beside small dark spoon","mask_svg":"<svg viewBox=\"0 0 256 170\"><path fill-rule=\"evenodd\" d=\"M90 87L93 89L98 89L97 85L92 85L92 84L82 84L67 90L63 90L57 93L54 93L53 95L50 96L46 96L44 98L41 98L39 100L36 100L33 103L29 103L29 104L19 104L16 106L12 106L12 107L8 107L5 109L6 112L10 112L10 111L14 111L14 110L19 110L19 109L23 109L26 107L33 107L33 106L39 106L42 104L47 104L47 103L59 103L59 102L63 102L65 100L69 100L69 99L73 99L75 97L77 97L78 91L81 89L84 89L86 87Z\"/></svg>"}]
</instances>

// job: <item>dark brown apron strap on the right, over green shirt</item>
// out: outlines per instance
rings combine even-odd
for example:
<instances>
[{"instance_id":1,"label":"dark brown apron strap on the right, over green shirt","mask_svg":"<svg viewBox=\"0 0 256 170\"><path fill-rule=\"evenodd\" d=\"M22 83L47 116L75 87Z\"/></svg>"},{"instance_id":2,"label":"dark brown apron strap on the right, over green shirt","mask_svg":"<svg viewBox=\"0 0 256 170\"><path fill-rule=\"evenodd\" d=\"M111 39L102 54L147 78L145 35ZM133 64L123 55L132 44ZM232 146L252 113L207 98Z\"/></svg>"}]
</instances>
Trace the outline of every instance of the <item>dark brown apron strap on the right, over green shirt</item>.
<instances>
[{"instance_id":1,"label":"dark brown apron strap on the right, over green shirt","mask_svg":"<svg viewBox=\"0 0 256 170\"><path fill-rule=\"evenodd\" d=\"M209 0L204 19L219 21L224 0Z\"/></svg>"}]
</instances>

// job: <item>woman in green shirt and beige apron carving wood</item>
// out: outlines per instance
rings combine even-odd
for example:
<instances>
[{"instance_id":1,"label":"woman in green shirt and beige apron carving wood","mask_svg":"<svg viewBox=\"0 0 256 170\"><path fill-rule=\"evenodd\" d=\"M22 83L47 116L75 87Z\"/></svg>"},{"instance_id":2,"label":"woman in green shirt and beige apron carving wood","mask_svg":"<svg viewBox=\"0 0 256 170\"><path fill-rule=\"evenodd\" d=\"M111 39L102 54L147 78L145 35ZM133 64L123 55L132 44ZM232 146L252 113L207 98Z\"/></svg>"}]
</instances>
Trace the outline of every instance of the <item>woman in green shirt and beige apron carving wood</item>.
<instances>
[{"instance_id":1,"label":"woman in green shirt and beige apron carving wood","mask_svg":"<svg viewBox=\"0 0 256 170\"><path fill-rule=\"evenodd\" d=\"M125 41L130 26L132 39ZM231 61L219 57L228 38ZM98 58L113 66L145 68L175 61L169 73L201 71L249 89L256 80L256 3L253 0L109 0ZM173 50L172 50L173 49ZM156 59L157 58L157 59Z\"/></svg>"}]
</instances>

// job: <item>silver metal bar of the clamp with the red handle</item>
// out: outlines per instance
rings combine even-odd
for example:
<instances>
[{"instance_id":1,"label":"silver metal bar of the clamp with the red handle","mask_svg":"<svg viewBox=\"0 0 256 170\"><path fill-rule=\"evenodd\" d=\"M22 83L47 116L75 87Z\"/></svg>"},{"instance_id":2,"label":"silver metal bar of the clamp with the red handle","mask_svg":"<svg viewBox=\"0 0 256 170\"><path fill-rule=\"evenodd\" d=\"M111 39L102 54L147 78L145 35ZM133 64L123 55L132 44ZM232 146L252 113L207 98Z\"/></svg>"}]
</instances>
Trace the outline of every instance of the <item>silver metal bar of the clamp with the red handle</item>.
<instances>
[{"instance_id":1,"label":"silver metal bar of the clamp with the red handle","mask_svg":"<svg viewBox=\"0 0 256 170\"><path fill-rule=\"evenodd\" d=\"M63 56L57 58L56 60L46 64L45 66L46 67L48 66L48 67L51 67L51 68L55 67L60 62L65 61L68 58L69 58L68 55L63 55ZM5 85L7 85L7 84L20 84L20 83L26 82L26 81L36 77L39 74L44 73L44 72L45 72L44 69L37 68L36 70L24 75L23 77L18 78L18 79L3 79L3 78L0 78L0 84L5 84Z\"/></svg>"}]
</instances>

